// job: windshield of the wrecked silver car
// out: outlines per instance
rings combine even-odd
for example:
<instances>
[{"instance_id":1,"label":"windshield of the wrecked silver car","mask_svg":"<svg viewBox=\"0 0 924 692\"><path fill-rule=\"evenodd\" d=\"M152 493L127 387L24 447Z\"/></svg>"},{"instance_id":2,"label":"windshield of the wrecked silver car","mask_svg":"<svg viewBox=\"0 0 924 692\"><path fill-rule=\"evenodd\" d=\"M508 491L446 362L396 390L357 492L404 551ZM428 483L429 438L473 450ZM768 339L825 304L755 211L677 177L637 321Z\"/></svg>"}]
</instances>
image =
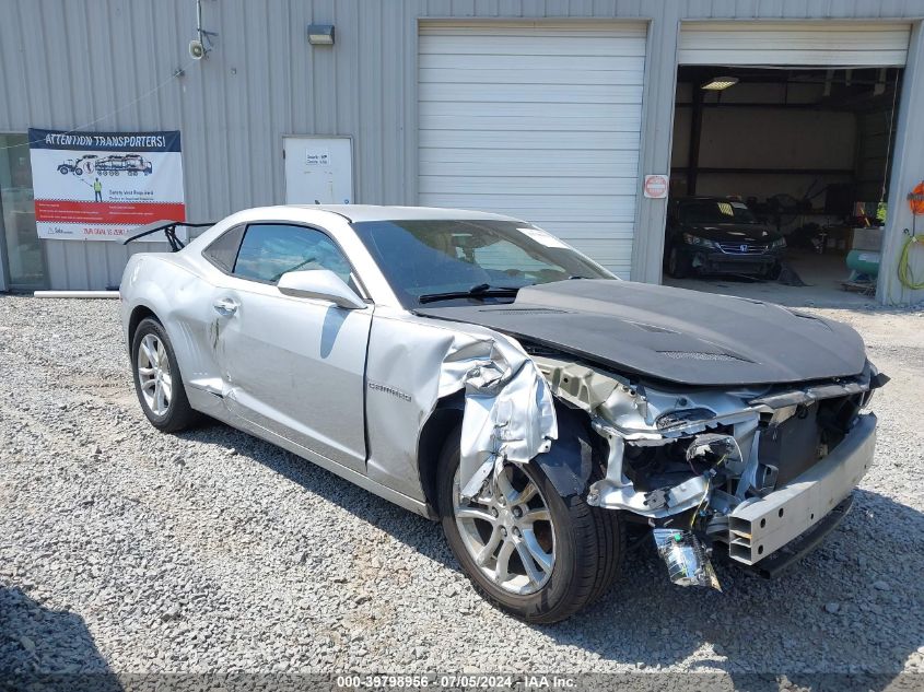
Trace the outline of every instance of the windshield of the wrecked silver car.
<instances>
[{"instance_id":1,"label":"windshield of the wrecked silver car","mask_svg":"<svg viewBox=\"0 0 924 692\"><path fill-rule=\"evenodd\" d=\"M414 220L352 226L408 308L420 306L421 296L423 303L510 302L516 289L536 283L613 279L553 235L525 223ZM469 294L472 289L470 295L443 295Z\"/></svg>"}]
</instances>

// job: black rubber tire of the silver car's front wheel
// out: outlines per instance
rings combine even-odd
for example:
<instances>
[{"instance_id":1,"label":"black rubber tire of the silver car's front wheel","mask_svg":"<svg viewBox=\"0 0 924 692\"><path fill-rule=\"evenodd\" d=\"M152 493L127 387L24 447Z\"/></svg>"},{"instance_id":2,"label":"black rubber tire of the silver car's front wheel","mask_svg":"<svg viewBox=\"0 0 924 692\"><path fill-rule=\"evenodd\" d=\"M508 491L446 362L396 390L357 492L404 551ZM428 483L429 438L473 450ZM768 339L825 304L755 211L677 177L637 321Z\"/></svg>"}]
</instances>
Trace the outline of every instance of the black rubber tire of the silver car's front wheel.
<instances>
[{"instance_id":1,"label":"black rubber tire of the silver car's front wheel","mask_svg":"<svg viewBox=\"0 0 924 692\"><path fill-rule=\"evenodd\" d=\"M460 527L459 524L465 521L480 527L473 543L475 548L483 549L498 530L492 527L504 525L505 517L503 515L498 517L493 525L482 519L457 518L455 507L458 497L458 468L459 431L457 430L451 435L440 457L437 508L449 548L475 588L487 600L526 622L552 623L571 617L609 588L619 570L625 544L625 533L619 514L590 507L580 495L562 497L535 462L510 464L504 471L508 476L512 489L521 493L519 496L523 496L523 491L528 490L529 483L535 486L536 495L528 505L525 505L528 514L536 513L537 509L531 507L540 505L548 509L549 520L539 519L531 526L535 541L539 543L543 552L549 554L549 548L551 548L551 568L541 572L542 582L525 584L525 580L529 578L526 576L525 562L519 556L521 549L514 548L508 566L510 572L517 576L506 585L499 584L496 578L488 574L494 572L496 576L496 559L492 556L486 566L479 566L472 550L471 526ZM475 507L466 505L463 511L478 507L479 504L476 503ZM510 511L506 515L507 520L515 507L514 504L507 505ZM487 517L490 516L488 513L486 507L482 514ZM521 521L525 521L527 514L522 516ZM527 525L524 524L524 526ZM506 542L519 542L525 546L529 529L516 533L518 538L514 537L516 530L518 529L514 527L507 532L510 539L500 539L501 542L494 551L496 556L504 550ZM479 546L479 538L483 540L483 546ZM524 548L524 550L527 554L531 554L528 549ZM495 563L493 570L491 561ZM539 562L534 561L534 568L538 567ZM519 575L521 573L523 576ZM523 588L523 593L515 591L517 586Z\"/></svg>"}]
</instances>

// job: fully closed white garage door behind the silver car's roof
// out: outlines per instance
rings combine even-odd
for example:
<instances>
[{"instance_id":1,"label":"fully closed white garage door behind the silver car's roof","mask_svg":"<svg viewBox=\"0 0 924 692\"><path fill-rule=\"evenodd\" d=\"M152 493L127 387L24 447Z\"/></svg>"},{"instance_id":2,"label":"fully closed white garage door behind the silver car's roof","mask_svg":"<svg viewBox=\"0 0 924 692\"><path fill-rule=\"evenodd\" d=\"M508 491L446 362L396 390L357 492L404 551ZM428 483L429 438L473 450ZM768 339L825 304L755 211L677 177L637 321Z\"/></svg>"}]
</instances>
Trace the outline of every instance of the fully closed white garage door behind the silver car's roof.
<instances>
[{"instance_id":1,"label":"fully closed white garage door behind the silver car's roof","mask_svg":"<svg viewBox=\"0 0 924 692\"><path fill-rule=\"evenodd\" d=\"M420 203L526 219L628 278L644 63L644 25L422 25Z\"/></svg>"}]
</instances>

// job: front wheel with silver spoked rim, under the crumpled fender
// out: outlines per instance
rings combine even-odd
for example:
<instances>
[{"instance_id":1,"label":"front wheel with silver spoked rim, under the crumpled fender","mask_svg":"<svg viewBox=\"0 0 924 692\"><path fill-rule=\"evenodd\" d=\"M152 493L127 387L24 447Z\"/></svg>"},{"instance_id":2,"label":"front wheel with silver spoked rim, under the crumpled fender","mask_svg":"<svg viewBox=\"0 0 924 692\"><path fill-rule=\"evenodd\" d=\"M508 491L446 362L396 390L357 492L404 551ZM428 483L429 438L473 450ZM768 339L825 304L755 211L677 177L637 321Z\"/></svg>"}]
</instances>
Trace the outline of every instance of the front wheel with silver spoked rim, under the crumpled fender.
<instances>
[{"instance_id":1,"label":"front wheel with silver spoked rim, under the crumpled fender","mask_svg":"<svg viewBox=\"0 0 924 692\"><path fill-rule=\"evenodd\" d=\"M476 588L528 622L564 620L612 583L624 535L619 516L562 497L535 464L507 464L463 501L459 438L440 459L438 509L449 548Z\"/></svg>"}]
</instances>

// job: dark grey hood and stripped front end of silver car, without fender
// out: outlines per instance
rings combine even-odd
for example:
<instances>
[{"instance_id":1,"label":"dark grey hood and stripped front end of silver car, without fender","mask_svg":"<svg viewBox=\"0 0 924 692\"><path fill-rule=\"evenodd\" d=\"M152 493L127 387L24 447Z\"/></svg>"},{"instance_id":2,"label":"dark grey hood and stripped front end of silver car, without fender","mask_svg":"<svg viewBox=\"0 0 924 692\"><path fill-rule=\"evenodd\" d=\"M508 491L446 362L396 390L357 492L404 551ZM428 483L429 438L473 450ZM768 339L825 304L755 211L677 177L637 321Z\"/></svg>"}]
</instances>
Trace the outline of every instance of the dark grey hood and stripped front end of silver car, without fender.
<instances>
[{"instance_id":1,"label":"dark grey hood and stripped front end of silver car, without fender","mask_svg":"<svg viewBox=\"0 0 924 692\"><path fill-rule=\"evenodd\" d=\"M557 402L587 417L582 439L605 469L581 469L587 503L667 531L654 538L678 584L715 585L713 550L781 571L843 518L872 464L876 417L861 410L888 378L833 320L622 281L416 312L518 340ZM537 460L552 474L569 464Z\"/></svg>"}]
</instances>

